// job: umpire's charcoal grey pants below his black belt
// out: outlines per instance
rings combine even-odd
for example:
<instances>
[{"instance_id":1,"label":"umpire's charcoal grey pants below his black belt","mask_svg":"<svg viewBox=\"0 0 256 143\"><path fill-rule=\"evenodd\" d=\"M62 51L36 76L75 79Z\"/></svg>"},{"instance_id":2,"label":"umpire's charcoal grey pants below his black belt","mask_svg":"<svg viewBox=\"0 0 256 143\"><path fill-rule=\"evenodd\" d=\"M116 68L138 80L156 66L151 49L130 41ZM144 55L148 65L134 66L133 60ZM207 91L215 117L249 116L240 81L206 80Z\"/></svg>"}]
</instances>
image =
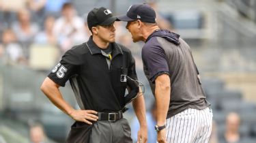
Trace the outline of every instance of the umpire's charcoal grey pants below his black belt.
<instances>
[{"instance_id":1,"label":"umpire's charcoal grey pants below his black belt","mask_svg":"<svg viewBox=\"0 0 256 143\"><path fill-rule=\"evenodd\" d=\"M90 143L132 143L126 118L116 122L97 121L91 131Z\"/></svg>"}]
</instances>

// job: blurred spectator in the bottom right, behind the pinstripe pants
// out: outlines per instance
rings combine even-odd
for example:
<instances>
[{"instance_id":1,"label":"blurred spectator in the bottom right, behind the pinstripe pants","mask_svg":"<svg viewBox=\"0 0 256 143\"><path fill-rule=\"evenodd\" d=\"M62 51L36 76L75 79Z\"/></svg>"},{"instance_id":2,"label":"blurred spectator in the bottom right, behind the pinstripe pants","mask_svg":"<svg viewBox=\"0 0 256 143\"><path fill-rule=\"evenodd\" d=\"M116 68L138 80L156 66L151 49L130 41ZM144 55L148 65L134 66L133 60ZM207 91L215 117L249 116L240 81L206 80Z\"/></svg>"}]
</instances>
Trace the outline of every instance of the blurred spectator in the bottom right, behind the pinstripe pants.
<instances>
[{"instance_id":1,"label":"blurred spectator in the bottom right, behind the pinstripe pants","mask_svg":"<svg viewBox=\"0 0 256 143\"><path fill-rule=\"evenodd\" d=\"M230 112L226 118L224 139L227 143L240 142L240 116L236 112Z\"/></svg>"}]
</instances>

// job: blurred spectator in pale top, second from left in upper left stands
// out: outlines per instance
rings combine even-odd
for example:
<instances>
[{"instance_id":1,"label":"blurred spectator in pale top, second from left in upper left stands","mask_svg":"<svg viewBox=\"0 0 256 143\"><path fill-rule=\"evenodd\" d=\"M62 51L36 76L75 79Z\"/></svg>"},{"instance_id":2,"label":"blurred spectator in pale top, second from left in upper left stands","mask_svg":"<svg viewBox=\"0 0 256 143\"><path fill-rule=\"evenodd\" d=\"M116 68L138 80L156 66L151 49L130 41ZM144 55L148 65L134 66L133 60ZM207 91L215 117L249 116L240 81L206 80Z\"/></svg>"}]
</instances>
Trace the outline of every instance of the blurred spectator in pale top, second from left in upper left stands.
<instances>
[{"instance_id":1,"label":"blurred spectator in pale top, second from left in upper left stands","mask_svg":"<svg viewBox=\"0 0 256 143\"><path fill-rule=\"evenodd\" d=\"M18 12L18 22L12 25L14 33L16 33L18 42L23 47L26 58L29 58L29 45L33 42L33 37L38 33L38 25L31 23L31 15L27 9Z\"/></svg>"}]
</instances>

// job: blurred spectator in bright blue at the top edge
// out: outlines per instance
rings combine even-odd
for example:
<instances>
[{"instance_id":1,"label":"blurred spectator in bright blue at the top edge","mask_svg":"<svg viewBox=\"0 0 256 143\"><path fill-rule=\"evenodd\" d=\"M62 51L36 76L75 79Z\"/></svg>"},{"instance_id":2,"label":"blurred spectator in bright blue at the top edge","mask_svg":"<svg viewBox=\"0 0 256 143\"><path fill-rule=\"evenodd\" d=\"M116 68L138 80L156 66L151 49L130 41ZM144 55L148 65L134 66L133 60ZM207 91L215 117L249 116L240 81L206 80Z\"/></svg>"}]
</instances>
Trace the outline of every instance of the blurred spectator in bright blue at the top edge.
<instances>
[{"instance_id":1,"label":"blurred spectator in bright blue at the top edge","mask_svg":"<svg viewBox=\"0 0 256 143\"><path fill-rule=\"evenodd\" d=\"M55 18L59 17L63 4L68 2L70 2L70 0L46 0L44 7L45 14L47 16L55 16Z\"/></svg>"}]
</instances>

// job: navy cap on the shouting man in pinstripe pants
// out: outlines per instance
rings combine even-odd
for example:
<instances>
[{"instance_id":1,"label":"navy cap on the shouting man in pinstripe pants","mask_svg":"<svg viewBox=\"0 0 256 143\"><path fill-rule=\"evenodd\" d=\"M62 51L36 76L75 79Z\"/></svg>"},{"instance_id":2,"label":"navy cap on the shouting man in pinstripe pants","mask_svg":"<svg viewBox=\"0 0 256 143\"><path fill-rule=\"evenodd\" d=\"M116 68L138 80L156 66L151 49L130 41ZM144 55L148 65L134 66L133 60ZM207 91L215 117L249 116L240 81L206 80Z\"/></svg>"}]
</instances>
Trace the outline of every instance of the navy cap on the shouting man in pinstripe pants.
<instances>
[{"instance_id":1,"label":"navy cap on the shouting man in pinstripe pants","mask_svg":"<svg viewBox=\"0 0 256 143\"><path fill-rule=\"evenodd\" d=\"M123 16L117 16L119 21L141 20L142 22L156 23L156 12L148 4L131 5Z\"/></svg>"}]
</instances>

